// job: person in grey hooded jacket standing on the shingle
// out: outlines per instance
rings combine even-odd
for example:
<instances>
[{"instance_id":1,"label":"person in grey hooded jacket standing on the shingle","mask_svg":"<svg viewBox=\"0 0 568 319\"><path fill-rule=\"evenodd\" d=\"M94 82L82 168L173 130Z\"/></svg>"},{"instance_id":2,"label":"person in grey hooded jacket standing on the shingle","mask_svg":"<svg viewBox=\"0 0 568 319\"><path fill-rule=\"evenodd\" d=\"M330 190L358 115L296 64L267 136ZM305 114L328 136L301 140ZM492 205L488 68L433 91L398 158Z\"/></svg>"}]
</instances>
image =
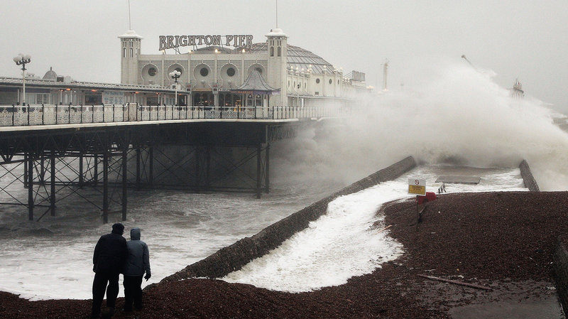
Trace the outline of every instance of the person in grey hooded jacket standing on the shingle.
<instances>
[{"instance_id":1,"label":"person in grey hooded jacket standing on the shingle","mask_svg":"<svg viewBox=\"0 0 568 319\"><path fill-rule=\"evenodd\" d=\"M136 310L142 308L142 276L146 281L152 276L150 271L150 254L148 245L140 240L140 228L130 231L130 239L126 242L129 254L124 266L124 311L132 311L132 303Z\"/></svg>"}]
</instances>

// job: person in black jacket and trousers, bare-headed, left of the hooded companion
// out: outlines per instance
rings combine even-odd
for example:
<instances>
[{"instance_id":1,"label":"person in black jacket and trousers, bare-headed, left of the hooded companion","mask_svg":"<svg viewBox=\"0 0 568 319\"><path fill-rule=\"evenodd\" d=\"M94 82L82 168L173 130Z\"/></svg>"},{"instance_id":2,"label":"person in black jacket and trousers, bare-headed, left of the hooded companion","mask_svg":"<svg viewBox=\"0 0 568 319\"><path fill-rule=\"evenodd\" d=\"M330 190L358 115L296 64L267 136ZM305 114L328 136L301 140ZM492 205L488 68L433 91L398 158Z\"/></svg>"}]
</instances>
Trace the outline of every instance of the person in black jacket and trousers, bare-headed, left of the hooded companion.
<instances>
[{"instance_id":1,"label":"person in black jacket and trousers, bare-headed, left of the hooded companion","mask_svg":"<svg viewBox=\"0 0 568 319\"><path fill-rule=\"evenodd\" d=\"M124 225L112 225L112 232L101 236L93 254L93 308L92 318L99 318L104 291L107 291L107 307L114 312L116 296L119 295L119 274L124 268L128 248L122 237ZM107 288L107 283L109 288Z\"/></svg>"}]
</instances>

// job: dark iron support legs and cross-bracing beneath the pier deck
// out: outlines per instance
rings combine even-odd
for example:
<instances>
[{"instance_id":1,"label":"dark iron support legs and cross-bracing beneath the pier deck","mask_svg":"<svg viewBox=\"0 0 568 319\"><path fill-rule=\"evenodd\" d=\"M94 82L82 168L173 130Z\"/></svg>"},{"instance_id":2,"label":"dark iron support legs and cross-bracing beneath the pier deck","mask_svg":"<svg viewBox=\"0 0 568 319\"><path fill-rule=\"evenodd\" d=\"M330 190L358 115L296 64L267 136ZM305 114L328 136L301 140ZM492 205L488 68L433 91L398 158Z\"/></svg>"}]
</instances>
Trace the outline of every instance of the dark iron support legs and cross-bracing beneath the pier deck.
<instances>
[{"instance_id":1,"label":"dark iron support legs and cross-bracing beneath the pier deck","mask_svg":"<svg viewBox=\"0 0 568 319\"><path fill-rule=\"evenodd\" d=\"M261 198L270 191L273 131L169 124L2 133L0 206L26 207L39 221L63 200L80 200L107 223L109 214L126 220L129 188Z\"/></svg>"}]
</instances>

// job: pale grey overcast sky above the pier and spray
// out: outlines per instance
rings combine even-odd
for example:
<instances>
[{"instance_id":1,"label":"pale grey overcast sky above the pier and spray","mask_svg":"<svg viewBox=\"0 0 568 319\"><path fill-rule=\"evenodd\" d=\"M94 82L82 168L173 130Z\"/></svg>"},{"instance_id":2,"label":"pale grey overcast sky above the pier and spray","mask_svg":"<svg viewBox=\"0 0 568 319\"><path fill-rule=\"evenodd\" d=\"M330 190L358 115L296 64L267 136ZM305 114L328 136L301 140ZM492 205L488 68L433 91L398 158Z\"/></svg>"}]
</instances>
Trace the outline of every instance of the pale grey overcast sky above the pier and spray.
<instances>
[{"instance_id":1,"label":"pale grey overcast sky above the pier and spray","mask_svg":"<svg viewBox=\"0 0 568 319\"><path fill-rule=\"evenodd\" d=\"M13 56L32 55L29 72L53 66L75 80L120 82L120 42L127 0L1 0L0 76L18 76ZM131 0L142 53L158 53L160 35L252 34L263 42L275 26L274 0ZM405 90L440 63L466 63L497 73L512 87L568 112L568 1L278 1L278 26L289 43L337 67L366 72Z\"/></svg>"}]
</instances>

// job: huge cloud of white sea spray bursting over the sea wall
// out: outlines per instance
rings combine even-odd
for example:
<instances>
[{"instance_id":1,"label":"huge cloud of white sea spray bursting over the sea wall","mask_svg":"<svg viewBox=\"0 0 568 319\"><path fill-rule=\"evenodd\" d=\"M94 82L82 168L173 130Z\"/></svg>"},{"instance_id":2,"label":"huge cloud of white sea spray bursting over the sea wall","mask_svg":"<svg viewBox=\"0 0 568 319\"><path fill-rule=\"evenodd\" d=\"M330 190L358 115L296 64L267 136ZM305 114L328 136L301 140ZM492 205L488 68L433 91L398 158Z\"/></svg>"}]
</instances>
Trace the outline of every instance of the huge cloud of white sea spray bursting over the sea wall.
<instances>
[{"instance_id":1,"label":"huge cloud of white sea spray bursting over the sea wall","mask_svg":"<svg viewBox=\"0 0 568 319\"><path fill-rule=\"evenodd\" d=\"M405 91L354 103L349 119L322 121L278 144L274 180L325 176L347 185L411 155L479 168L515 168L526 159L541 190L568 189L568 134L543 102L513 99L495 72L464 63L439 63L425 74Z\"/></svg>"}]
</instances>

